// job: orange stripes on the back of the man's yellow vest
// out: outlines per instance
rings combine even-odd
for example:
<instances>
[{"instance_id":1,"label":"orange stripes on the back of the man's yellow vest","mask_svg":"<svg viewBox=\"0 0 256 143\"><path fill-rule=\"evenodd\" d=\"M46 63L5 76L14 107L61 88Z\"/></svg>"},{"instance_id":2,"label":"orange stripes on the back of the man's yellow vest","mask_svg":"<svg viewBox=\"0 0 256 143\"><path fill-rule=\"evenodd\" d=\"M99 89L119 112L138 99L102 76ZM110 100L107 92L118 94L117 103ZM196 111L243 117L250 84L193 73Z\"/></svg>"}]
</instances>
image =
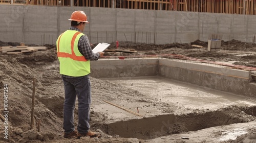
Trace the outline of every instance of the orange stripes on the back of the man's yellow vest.
<instances>
[{"instance_id":1,"label":"orange stripes on the back of the man's yellow vest","mask_svg":"<svg viewBox=\"0 0 256 143\"><path fill-rule=\"evenodd\" d=\"M60 41L60 38L61 38L62 34L59 37L59 41ZM78 34L80 34L80 32L76 32L74 34L74 36L72 37L72 40L71 40L71 54L65 53L65 52L59 52L59 41L58 41L58 52L57 52L58 57L71 58L75 61L87 61L86 58L84 58L84 56L76 56L76 54L74 53L74 42L75 42L76 37L77 37Z\"/></svg>"}]
</instances>

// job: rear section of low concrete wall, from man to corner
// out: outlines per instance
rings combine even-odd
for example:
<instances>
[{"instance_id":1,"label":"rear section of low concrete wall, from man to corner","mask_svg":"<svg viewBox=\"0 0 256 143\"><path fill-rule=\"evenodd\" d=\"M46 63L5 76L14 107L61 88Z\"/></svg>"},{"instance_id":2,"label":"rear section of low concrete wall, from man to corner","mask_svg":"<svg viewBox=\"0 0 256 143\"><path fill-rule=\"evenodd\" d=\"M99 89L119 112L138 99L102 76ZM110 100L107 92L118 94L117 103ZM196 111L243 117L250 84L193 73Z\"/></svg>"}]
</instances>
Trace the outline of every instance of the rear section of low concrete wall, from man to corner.
<instances>
[{"instance_id":1,"label":"rear section of low concrete wall, from man to corner","mask_svg":"<svg viewBox=\"0 0 256 143\"><path fill-rule=\"evenodd\" d=\"M122 78L156 76L158 59L125 59L91 61L91 76L95 78Z\"/></svg>"}]
</instances>

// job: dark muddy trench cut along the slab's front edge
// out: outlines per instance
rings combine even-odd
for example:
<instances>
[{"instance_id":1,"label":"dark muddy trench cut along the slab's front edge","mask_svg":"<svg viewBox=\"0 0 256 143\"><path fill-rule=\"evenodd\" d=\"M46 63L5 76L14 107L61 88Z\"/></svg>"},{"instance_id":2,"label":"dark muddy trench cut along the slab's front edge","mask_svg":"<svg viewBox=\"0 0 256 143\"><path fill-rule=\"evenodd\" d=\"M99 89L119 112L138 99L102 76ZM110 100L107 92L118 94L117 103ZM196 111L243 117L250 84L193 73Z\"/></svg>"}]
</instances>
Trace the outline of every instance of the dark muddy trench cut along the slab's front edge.
<instances>
[{"instance_id":1,"label":"dark muddy trench cut along the slab's front edge","mask_svg":"<svg viewBox=\"0 0 256 143\"><path fill-rule=\"evenodd\" d=\"M118 134L121 137L135 137L152 139L181 132L198 131L205 128L247 123L248 116L256 115L256 106L246 109L240 118L234 116L228 108L204 113L188 113L182 115L166 114L154 117L119 121L108 124L110 135Z\"/></svg>"}]
</instances>

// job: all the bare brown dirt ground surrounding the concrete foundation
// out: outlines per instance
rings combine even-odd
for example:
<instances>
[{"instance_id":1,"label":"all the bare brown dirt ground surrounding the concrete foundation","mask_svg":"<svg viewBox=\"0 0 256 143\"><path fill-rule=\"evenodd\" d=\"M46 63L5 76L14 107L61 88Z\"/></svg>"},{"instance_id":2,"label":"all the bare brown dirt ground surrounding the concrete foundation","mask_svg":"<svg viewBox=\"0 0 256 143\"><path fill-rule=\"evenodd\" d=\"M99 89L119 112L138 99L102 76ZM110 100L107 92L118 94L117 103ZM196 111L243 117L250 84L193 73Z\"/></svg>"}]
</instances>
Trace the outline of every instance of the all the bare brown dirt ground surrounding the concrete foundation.
<instances>
[{"instance_id":1,"label":"all the bare brown dirt ground surrounding the concrete foundation","mask_svg":"<svg viewBox=\"0 0 256 143\"><path fill-rule=\"evenodd\" d=\"M198 48L191 46L197 44L204 46ZM0 46L19 45L19 43L2 42ZM96 44L94 44L96 45ZM124 138L118 134L109 135L108 125L113 120L121 121L123 118L110 118L108 114L91 109L91 129L100 132L103 136L100 138L66 139L63 138L62 130L62 111L64 101L64 89L61 77L59 75L58 60L56 56L55 45L45 45L47 51L37 51L34 53L22 55L7 55L0 53L0 93L4 96L4 87L8 84L8 139L4 138L4 122L0 122L0 142L256 142L256 109L255 107L230 106L211 110L193 110L180 109L175 104L166 104L148 97L139 92L121 84L116 84L108 80L101 80L91 77L92 83L92 105L104 103L103 100L111 102L137 102L154 106L161 113L175 114L175 110L184 110L179 115L180 122L160 134L146 134L145 138ZM109 49L116 49L115 43L112 43ZM216 51L207 51L207 42L195 41L193 43L180 44L146 44L119 42L119 49L134 49L136 54L129 53L108 53L106 56L129 56L129 55L155 55L155 54L178 54L188 57L194 57L203 60L229 62L232 64L256 67L256 43L244 43L237 40L222 41L222 48ZM35 122L40 119L40 132L30 130L31 103L33 77L36 78L35 90ZM3 99L3 97L2 97ZM252 99L256 101L255 99ZM256 103L256 102L255 102ZM1 101L0 111L4 111L4 100ZM246 114L242 114L245 112ZM209 122L209 118L217 116L218 119L229 120L223 126L208 128L198 128L199 131L188 131L183 127L184 123L191 124L194 116L204 115L202 123ZM182 120L187 117L187 120ZM127 119L125 119L127 120ZM216 118L212 118L215 122ZM77 105L75 109L75 122L77 121ZM216 120L217 121L217 120ZM198 124L203 127L202 123ZM241 123L247 127L245 133L241 133L236 139L227 139L223 141L212 140L223 136L224 128L239 128ZM231 125L230 125L231 124ZM230 126L225 126L230 125ZM231 127L232 126L232 127ZM3 127L3 129L2 129ZM203 130L201 130L203 129ZM198 137L200 134L200 138ZM224 133L225 134L225 133ZM172 135L170 138L161 136ZM182 136L189 136L186 139Z\"/></svg>"}]
</instances>

